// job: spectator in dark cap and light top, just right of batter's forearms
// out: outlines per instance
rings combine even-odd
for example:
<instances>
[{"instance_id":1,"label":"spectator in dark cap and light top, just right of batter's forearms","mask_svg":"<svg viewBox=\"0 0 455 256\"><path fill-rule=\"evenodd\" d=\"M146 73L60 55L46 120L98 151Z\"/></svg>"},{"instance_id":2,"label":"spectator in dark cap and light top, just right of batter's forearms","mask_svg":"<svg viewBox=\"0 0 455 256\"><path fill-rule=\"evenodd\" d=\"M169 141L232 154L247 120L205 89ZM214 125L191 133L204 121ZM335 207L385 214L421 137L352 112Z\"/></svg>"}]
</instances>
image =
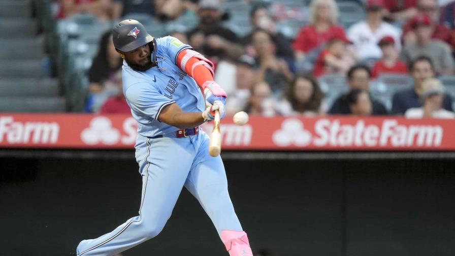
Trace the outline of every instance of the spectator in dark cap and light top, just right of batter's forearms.
<instances>
[{"instance_id":1,"label":"spectator in dark cap and light top, just right of batter's forearms","mask_svg":"<svg viewBox=\"0 0 455 256\"><path fill-rule=\"evenodd\" d=\"M253 57L240 56L237 61L236 84L231 90L226 90L226 93L229 94L229 101L226 102L226 113L233 115L245 108L254 81L255 65L256 61Z\"/></svg>"}]
</instances>

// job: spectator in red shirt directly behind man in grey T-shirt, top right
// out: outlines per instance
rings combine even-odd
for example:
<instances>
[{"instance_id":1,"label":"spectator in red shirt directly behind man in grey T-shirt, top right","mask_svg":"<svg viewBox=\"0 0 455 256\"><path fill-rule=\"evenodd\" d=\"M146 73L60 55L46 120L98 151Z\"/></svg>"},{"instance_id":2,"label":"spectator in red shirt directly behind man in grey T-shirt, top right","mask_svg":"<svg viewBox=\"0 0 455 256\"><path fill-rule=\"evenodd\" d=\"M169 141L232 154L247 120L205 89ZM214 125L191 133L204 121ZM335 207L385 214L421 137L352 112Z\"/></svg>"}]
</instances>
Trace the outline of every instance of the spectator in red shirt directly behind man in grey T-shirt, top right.
<instances>
[{"instance_id":1,"label":"spectator in red shirt directly behind man in grey T-shirt, top right","mask_svg":"<svg viewBox=\"0 0 455 256\"><path fill-rule=\"evenodd\" d=\"M455 40L453 40L452 31L446 26L439 23L439 6L436 0L418 0L417 1L417 10L420 15L428 15L432 23L432 38L439 39L446 42L451 47L455 46ZM409 19L403 25L403 41L415 41L415 34L412 29L412 19Z\"/></svg>"}]
</instances>

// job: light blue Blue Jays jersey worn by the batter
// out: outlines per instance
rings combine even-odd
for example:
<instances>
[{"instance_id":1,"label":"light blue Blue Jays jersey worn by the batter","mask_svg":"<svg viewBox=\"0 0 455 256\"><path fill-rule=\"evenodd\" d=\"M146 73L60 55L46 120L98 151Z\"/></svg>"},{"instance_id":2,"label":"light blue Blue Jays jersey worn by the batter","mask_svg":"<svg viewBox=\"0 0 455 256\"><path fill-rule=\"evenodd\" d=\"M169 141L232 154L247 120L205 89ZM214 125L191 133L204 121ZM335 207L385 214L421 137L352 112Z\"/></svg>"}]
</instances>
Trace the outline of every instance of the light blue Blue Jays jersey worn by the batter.
<instances>
[{"instance_id":1,"label":"light blue Blue Jays jersey worn by the batter","mask_svg":"<svg viewBox=\"0 0 455 256\"><path fill-rule=\"evenodd\" d=\"M161 110L172 103L177 103L183 112L204 111L204 97L198 84L176 65L177 55L183 49L192 48L168 36L155 40L152 58L157 67L138 72L123 61L123 94L138 121L138 132L144 137L178 130L158 121Z\"/></svg>"}]
</instances>

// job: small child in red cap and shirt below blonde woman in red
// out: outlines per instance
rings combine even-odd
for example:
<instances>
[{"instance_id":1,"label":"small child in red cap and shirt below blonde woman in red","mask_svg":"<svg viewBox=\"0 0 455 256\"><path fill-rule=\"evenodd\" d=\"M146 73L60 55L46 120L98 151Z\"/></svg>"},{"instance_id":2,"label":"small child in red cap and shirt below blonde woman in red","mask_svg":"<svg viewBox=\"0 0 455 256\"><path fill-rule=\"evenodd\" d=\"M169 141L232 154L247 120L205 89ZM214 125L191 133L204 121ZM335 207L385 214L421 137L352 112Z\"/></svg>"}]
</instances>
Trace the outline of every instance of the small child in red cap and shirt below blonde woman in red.
<instances>
[{"instance_id":1,"label":"small child in red cap and shirt below blonde woman in red","mask_svg":"<svg viewBox=\"0 0 455 256\"><path fill-rule=\"evenodd\" d=\"M345 74L354 66L356 56L346 47L350 42L345 37L334 35L327 43L316 60L313 70L314 77L325 74Z\"/></svg>"}]
</instances>

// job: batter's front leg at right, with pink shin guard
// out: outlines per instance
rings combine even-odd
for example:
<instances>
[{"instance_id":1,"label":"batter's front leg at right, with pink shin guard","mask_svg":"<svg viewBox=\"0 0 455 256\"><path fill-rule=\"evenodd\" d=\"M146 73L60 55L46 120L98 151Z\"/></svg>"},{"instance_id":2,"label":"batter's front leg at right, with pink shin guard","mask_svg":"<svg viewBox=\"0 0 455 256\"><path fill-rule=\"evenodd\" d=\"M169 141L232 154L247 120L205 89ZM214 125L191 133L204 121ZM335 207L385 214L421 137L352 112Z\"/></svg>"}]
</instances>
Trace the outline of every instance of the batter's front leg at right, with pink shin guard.
<instances>
[{"instance_id":1,"label":"batter's front leg at right, with pink shin guard","mask_svg":"<svg viewBox=\"0 0 455 256\"><path fill-rule=\"evenodd\" d=\"M228 181L221 157L208 154L209 137L202 133L196 140L199 151L191 167L185 187L198 199L212 220L218 234L231 256L252 256L248 237L228 192Z\"/></svg>"}]
</instances>

